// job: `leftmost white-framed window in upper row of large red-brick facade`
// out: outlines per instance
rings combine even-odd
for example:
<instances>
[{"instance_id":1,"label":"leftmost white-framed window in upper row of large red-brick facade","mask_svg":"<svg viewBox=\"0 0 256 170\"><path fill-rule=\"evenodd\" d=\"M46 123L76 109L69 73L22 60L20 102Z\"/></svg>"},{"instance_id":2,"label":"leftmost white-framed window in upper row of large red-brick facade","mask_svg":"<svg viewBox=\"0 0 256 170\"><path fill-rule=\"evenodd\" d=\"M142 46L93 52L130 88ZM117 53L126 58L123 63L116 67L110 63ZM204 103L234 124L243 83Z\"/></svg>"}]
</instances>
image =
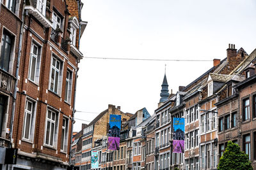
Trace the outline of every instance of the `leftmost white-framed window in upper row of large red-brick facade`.
<instances>
[{"instance_id":1,"label":"leftmost white-framed window in upper row of large red-brick facade","mask_svg":"<svg viewBox=\"0 0 256 170\"><path fill-rule=\"evenodd\" d=\"M40 47L35 43L31 43L31 54L29 61L28 78L36 83L39 82L40 72Z\"/></svg>"}]
</instances>

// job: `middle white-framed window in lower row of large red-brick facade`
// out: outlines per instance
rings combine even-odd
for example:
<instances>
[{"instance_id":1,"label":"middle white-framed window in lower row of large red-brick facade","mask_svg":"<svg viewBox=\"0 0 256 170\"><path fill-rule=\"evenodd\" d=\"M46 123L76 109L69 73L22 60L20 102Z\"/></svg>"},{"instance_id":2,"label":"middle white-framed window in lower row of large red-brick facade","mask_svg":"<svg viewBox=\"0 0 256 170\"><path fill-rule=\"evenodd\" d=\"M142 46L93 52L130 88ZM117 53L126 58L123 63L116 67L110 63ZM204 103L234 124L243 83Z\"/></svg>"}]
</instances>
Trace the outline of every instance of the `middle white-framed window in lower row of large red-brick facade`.
<instances>
[{"instance_id":1,"label":"middle white-framed window in lower row of large red-brick facade","mask_svg":"<svg viewBox=\"0 0 256 170\"><path fill-rule=\"evenodd\" d=\"M58 114L55 111L48 110L46 117L46 126L45 126L45 144L49 146L54 146L54 138L56 135L56 127L58 120Z\"/></svg>"}]
</instances>

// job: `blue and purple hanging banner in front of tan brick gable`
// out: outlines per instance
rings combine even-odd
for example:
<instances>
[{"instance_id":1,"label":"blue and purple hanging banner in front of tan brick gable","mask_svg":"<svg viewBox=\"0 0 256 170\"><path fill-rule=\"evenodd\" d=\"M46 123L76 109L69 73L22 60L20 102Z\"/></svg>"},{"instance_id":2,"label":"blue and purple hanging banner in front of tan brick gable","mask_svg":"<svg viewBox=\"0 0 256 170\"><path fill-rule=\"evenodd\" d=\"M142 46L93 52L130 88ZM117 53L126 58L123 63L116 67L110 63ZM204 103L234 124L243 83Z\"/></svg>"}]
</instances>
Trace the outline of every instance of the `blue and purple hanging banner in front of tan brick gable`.
<instances>
[{"instance_id":1,"label":"blue and purple hanging banner in front of tan brick gable","mask_svg":"<svg viewBox=\"0 0 256 170\"><path fill-rule=\"evenodd\" d=\"M108 150L119 150L121 115L109 115Z\"/></svg>"}]
</instances>

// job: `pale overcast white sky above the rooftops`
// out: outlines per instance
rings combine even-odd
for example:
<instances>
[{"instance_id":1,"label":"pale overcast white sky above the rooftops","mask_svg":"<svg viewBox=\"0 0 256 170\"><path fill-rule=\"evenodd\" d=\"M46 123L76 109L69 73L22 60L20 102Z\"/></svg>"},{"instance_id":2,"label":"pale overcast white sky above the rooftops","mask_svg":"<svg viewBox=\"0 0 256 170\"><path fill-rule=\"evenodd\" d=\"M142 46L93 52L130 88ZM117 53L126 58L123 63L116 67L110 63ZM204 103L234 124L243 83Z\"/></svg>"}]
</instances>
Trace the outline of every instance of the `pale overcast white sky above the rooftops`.
<instances>
[{"instance_id":1,"label":"pale overcast white sky above the rooftops","mask_svg":"<svg viewBox=\"0 0 256 170\"><path fill-rule=\"evenodd\" d=\"M74 131L108 104L135 113L157 109L166 77L176 93L227 57L228 43L250 54L256 48L255 0L86 0L82 19ZM197 62L86 59L192 59ZM92 112L92 113L89 113ZM78 118L78 119L77 119ZM81 119L81 120L79 120ZM82 121L86 120L86 121Z\"/></svg>"}]
</instances>

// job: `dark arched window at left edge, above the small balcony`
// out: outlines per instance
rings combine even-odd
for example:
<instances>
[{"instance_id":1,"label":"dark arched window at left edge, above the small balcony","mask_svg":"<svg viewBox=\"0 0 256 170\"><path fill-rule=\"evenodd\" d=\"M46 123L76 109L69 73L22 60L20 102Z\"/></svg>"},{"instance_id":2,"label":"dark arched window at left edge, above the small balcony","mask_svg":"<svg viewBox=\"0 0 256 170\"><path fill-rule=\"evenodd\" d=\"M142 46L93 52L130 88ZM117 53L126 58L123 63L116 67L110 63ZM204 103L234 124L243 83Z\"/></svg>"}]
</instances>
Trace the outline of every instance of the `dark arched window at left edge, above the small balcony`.
<instances>
[{"instance_id":1,"label":"dark arched window at left edge, above the small balcony","mask_svg":"<svg viewBox=\"0 0 256 170\"><path fill-rule=\"evenodd\" d=\"M9 63L11 57L12 48L12 36L8 32L4 31L2 35L1 57L0 57L0 69L9 71Z\"/></svg>"}]
</instances>

